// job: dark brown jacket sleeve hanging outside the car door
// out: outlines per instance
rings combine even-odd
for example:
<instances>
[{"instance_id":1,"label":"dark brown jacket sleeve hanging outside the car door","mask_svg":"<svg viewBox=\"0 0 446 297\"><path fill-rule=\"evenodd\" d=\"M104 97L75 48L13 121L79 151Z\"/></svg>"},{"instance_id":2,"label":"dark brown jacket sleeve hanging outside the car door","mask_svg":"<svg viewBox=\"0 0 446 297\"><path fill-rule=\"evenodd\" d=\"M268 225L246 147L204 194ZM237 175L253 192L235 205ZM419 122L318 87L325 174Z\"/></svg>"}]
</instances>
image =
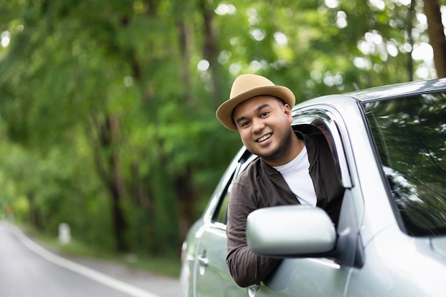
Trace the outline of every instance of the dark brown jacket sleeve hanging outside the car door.
<instances>
[{"instance_id":1,"label":"dark brown jacket sleeve hanging outside the car door","mask_svg":"<svg viewBox=\"0 0 446 297\"><path fill-rule=\"evenodd\" d=\"M258 208L252 191L248 191L245 184L236 182L228 205L226 263L232 278L241 287L260 283L281 261L258 256L247 245L247 217Z\"/></svg>"}]
</instances>

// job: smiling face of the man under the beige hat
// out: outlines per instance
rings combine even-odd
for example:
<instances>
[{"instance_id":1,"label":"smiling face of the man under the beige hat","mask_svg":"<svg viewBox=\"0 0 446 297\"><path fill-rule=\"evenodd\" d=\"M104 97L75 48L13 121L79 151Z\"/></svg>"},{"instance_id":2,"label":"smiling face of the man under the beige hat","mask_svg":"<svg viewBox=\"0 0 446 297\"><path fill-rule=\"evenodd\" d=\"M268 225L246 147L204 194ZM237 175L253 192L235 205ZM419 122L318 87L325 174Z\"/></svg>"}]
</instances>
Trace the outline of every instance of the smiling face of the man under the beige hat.
<instances>
[{"instance_id":1,"label":"smiling face of the man under the beige hat","mask_svg":"<svg viewBox=\"0 0 446 297\"><path fill-rule=\"evenodd\" d=\"M291 150L291 109L269 95L250 98L232 113L242 142L247 149L272 166L286 161Z\"/></svg>"}]
</instances>

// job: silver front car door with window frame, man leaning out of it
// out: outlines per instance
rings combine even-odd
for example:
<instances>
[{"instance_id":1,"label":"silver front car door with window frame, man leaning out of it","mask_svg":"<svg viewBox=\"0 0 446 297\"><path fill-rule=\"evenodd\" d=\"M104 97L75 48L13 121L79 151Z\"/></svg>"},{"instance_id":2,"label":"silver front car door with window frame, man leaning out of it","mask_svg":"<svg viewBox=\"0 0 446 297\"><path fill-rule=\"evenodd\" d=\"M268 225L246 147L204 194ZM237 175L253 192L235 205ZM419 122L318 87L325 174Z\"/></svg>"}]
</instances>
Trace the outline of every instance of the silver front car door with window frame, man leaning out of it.
<instances>
[{"instance_id":1,"label":"silver front car door with window frame, man leaning out of it","mask_svg":"<svg viewBox=\"0 0 446 297\"><path fill-rule=\"evenodd\" d=\"M308 124L316 125L326 135L338 167L339 180L346 188L338 233L352 232L355 236L359 219L353 197L357 193L349 175L346 152L348 135L341 115L323 105L294 110L294 125L305 127ZM351 245L348 242L338 244ZM346 246L346 249L354 251L352 246ZM260 284L255 296L344 296L355 253L349 254L346 257L351 256L351 259L346 259L345 265L340 265L331 258L284 259L279 268Z\"/></svg>"}]
</instances>

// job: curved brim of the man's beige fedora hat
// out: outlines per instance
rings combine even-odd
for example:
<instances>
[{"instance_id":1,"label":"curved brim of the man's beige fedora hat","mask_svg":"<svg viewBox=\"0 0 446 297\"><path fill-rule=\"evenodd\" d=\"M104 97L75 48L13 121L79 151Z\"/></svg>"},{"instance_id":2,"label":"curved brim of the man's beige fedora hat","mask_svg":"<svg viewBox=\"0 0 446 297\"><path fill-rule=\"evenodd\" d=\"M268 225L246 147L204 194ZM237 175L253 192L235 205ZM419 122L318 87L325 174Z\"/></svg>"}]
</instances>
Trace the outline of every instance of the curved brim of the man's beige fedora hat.
<instances>
[{"instance_id":1,"label":"curved brim of the man's beige fedora hat","mask_svg":"<svg viewBox=\"0 0 446 297\"><path fill-rule=\"evenodd\" d=\"M232 120L232 112L234 111L234 108L236 108L237 105L243 101L259 95L270 95L279 98L280 100L284 101L284 103L288 104L290 108L293 108L294 104L296 103L296 98L289 88L281 85L271 85L248 90L247 92L227 100L219 106L215 115L217 115L217 118L224 125L224 127L227 127L232 131L237 131L237 126L235 125L234 120Z\"/></svg>"}]
</instances>

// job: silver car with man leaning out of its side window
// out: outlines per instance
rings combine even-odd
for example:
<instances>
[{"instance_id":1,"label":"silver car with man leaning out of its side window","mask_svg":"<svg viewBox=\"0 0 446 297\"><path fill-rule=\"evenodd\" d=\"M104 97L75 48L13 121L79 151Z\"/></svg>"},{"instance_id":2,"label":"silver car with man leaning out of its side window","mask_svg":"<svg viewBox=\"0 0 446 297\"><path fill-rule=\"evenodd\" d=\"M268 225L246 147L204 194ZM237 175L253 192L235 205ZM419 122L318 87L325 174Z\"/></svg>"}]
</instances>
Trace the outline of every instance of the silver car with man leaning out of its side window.
<instances>
[{"instance_id":1,"label":"silver car with man leaning out of its side window","mask_svg":"<svg viewBox=\"0 0 446 297\"><path fill-rule=\"evenodd\" d=\"M182 248L182 296L446 296L446 79L328 95L293 108L322 132L346 188L337 229L323 210L249 214L251 251L283 259L241 288L226 264L232 182L256 156L242 147ZM319 129L313 129L313 127Z\"/></svg>"}]
</instances>

